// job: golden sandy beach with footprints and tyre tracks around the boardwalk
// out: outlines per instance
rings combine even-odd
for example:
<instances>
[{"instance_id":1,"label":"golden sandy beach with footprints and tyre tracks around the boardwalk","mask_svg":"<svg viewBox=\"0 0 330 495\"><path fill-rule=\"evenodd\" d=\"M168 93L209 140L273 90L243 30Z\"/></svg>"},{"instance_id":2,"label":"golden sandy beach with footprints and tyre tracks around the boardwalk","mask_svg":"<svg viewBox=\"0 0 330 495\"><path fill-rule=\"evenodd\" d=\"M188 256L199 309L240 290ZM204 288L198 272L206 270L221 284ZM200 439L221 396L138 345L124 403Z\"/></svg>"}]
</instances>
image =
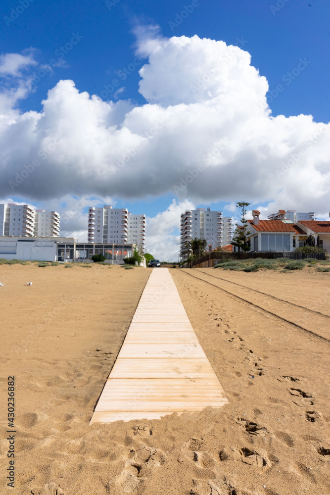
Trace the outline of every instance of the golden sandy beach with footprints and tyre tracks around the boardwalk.
<instances>
[{"instance_id":1,"label":"golden sandy beach with footprints and tyre tracks around the boardwalk","mask_svg":"<svg viewBox=\"0 0 330 495\"><path fill-rule=\"evenodd\" d=\"M170 273L230 403L89 425L150 269L0 266L1 494L330 493L330 274Z\"/></svg>"}]
</instances>

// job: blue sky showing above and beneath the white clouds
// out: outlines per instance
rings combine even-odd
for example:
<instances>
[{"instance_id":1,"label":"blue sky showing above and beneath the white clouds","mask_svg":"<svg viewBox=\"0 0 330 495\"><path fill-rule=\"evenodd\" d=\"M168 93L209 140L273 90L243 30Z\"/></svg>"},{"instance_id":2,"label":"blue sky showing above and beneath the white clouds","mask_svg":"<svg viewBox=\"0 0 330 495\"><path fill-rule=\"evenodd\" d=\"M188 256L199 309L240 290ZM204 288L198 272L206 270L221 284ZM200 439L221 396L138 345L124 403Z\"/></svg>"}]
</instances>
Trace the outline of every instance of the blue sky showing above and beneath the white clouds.
<instances>
[{"instance_id":1,"label":"blue sky showing above and beneath the white clouds","mask_svg":"<svg viewBox=\"0 0 330 495\"><path fill-rule=\"evenodd\" d=\"M36 62L28 72L30 77L35 76L31 90L14 105L21 114L42 112L47 92L61 79L73 80L80 93L86 91L104 101L131 100L133 106L142 106L146 98L139 92L138 71L148 56L136 58L136 28L157 25L159 35L167 39L197 35L248 51L251 65L268 81L267 103L272 116L311 114L314 122L328 123L329 18L330 4L326 0L8 1L0 6L1 53L32 53ZM72 39L75 44L70 43ZM52 66L50 73L43 70L48 64ZM3 84L8 87L10 83ZM127 206L150 217L164 212L176 198L173 187L150 193L132 200L129 194L112 192L109 197L117 201L117 206ZM37 196L19 188L8 190L6 195L39 207L48 206ZM226 205L244 199L240 192L236 196L235 190L223 200L220 193L216 197L213 192L209 201L207 195L200 196L195 194L192 198L195 206L210 204L212 209L222 209L229 215L233 213ZM59 197L57 191L53 202ZM278 205L276 197L249 195L249 187L246 198L265 208L272 202ZM172 235L177 234L175 228Z\"/></svg>"}]
</instances>

